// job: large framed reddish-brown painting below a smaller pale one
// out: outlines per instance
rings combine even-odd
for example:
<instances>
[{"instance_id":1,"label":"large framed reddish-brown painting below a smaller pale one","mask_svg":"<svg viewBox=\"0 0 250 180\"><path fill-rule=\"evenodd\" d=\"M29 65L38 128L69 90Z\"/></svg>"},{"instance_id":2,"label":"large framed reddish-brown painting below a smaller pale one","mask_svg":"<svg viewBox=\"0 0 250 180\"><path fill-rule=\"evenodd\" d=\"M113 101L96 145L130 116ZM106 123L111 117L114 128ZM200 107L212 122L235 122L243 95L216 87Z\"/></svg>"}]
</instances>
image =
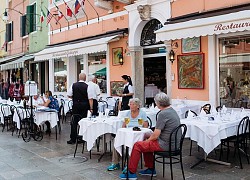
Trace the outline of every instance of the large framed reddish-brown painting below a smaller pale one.
<instances>
[{"instance_id":1,"label":"large framed reddish-brown painting below a smaller pale one","mask_svg":"<svg viewBox=\"0 0 250 180\"><path fill-rule=\"evenodd\" d=\"M204 89L204 63L204 53L178 55L178 89Z\"/></svg>"}]
</instances>

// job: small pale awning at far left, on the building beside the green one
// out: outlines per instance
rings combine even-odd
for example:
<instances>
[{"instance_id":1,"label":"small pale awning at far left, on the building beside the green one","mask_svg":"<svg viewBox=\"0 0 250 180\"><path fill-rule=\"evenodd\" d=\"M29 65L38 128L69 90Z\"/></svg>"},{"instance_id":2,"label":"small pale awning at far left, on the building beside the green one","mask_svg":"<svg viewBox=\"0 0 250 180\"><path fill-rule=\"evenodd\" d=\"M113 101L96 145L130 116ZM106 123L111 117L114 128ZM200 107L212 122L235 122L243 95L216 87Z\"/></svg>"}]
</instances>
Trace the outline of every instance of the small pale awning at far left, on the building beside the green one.
<instances>
[{"instance_id":1,"label":"small pale awning at far left, on the building beside the green one","mask_svg":"<svg viewBox=\"0 0 250 180\"><path fill-rule=\"evenodd\" d=\"M1 70L8 70L8 69L17 69L24 67L24 61L34 58L34 55L25 55L15 61L11 61L6 64L1 65Z\"/></svg>"}]
</instances>

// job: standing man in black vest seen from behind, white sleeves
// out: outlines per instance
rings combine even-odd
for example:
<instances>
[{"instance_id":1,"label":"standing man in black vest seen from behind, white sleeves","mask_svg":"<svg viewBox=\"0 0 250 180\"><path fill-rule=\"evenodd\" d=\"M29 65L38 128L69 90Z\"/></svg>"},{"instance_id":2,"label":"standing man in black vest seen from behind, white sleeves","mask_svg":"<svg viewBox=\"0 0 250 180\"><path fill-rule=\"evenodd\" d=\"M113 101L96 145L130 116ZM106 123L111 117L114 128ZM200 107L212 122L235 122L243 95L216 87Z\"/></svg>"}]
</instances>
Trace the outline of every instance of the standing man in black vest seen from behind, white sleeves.
<instances>
[{"instance_id":1,"label":"standing man in black vest seen from behind, white sleeves","mask_svg":"<svg viewBox=\"0 0 250 180\"><path fill-rule=\"evenodd\" d=\"M94 92L91 91L91 88L88 87L86 81L86 74L79 74L79 81L74 83L67 92L69 98L73 99L73 114L79 114L82 118L86 118L88 110L93 113L93 99ZM70 140L67 141L67 144L74 144L77 137L77 125L80 119L75 119L74 122L71 122L71 133Z\"/></svg>"}]
</instances>

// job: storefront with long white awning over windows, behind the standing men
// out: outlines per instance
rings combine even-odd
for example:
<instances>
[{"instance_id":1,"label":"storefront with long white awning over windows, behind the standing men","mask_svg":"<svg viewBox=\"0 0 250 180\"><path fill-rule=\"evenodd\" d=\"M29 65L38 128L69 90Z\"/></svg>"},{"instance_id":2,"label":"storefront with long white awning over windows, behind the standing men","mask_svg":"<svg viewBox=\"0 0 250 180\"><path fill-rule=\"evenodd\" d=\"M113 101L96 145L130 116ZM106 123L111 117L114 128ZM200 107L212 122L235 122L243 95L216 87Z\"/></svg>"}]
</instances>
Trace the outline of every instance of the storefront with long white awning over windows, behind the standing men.
<instances>
[{"instance_id":1,"label":"storefront with long white awning over windows, behind the standing men","mask_svg":"<svg viewBox=\"0 0 250 180\"><path fill-rule=\"evenodd\" d=\"M121 29L94 37L49 45L35 54L35 62L49 61L49 89L66 95L69 86L78 80L78 74L94 74L102 93L110 94L110 43L119 42L128 29ZM112 64L112 63L111 63Z\"/></svg>"}]
</instances>

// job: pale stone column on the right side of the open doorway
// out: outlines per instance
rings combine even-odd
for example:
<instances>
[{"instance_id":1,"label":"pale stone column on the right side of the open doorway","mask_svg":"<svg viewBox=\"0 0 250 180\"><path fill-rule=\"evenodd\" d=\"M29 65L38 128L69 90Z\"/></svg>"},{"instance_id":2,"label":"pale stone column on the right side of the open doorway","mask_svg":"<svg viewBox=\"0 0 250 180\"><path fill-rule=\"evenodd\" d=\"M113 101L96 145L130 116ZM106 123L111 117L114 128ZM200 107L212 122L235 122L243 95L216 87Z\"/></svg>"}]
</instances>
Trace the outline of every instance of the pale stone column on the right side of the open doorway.
<instances>
[{"instance_id":1,"label":"pale stone column on the right side of the open doorway","mask_svg":"<svg viewBox=\"0 0 250 180\"><path fill-rule=\"evenodd\" d=\"M164 41L166 46L166 80L167 80L167 94L172 99L172 63L169 60L168 53L171 50L171 41Z\"/></svg>"}]
</instances>

